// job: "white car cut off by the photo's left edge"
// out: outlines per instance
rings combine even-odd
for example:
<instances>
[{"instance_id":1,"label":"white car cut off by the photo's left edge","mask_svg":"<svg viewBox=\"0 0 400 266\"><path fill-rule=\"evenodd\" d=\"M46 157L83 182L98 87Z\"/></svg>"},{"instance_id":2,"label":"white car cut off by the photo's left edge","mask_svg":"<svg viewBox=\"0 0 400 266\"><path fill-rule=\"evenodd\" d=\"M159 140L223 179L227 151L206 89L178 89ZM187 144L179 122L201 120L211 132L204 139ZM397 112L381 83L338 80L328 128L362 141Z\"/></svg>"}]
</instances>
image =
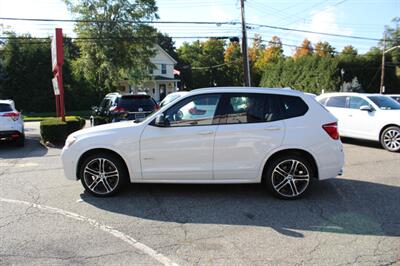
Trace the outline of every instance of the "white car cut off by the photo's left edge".
<instances>
[{"instance_id":1,"label":"white car cut off by the photo's left edge","mask_svg":"<svg viewBox=\"0 0 400 266\"><path fill-rule=\"evenodd\" d=\"M15 109L13 100L0 100L0 140L11 140L17 146L24 146L24 120Z\"/></svg>"}]
</instances>

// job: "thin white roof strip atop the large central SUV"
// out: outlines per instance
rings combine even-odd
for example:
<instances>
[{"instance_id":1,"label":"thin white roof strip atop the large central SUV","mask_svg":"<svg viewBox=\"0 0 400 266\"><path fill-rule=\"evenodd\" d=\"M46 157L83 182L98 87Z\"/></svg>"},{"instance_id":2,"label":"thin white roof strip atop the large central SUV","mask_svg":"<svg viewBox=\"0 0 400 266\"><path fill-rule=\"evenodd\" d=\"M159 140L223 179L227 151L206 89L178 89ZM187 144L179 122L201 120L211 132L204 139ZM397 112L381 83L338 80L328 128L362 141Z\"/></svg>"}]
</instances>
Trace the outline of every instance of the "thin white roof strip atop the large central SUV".
<instances>
[{"instance_id":1,"label":"thin white roof strip atop the large central SUV","mask_svg":"<svg viewBox=\"0 0 400 266\"><path fill-rule=\"evenodd\" d=\"M302 96L301 91L290 88L260 88L260 87L211 87L195 89L189 92L190 95L203 93L275 93L282 95Z\"/></svg>"}]
</instances>

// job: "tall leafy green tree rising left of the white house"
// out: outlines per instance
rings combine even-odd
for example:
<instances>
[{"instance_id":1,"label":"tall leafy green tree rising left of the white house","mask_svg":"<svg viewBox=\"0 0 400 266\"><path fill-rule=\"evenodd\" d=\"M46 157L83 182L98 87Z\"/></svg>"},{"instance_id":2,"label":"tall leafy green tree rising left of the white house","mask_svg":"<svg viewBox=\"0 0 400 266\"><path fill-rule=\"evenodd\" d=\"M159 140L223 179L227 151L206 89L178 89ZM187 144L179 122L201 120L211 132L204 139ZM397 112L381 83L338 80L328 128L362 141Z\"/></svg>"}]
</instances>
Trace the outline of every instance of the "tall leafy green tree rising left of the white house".
<instances>
[{"instance_id":1,"label":"tall leafy green tree rising left of the white house","mask_svg":"<svg viewBox=\"0 0 400 266\"><path fill-rule=\"evenodd\" d=\"M82 21L75 27L77 36L82 38L75 71L99 91L110 91L124 79L137 83L147 76L157 32L135 21L158 17L154 0L64 1Z\"/></svg>"}]
</instances>

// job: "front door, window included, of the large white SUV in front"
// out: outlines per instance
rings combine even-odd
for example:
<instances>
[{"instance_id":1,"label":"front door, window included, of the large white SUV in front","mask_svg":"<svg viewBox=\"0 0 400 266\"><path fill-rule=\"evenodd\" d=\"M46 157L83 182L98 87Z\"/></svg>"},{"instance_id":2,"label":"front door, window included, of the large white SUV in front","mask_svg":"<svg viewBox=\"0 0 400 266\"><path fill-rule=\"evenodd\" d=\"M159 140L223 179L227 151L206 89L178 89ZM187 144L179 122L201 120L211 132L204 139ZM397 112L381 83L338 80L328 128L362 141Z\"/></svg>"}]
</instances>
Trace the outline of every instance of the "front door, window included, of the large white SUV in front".
<instances>
[{"instance_id":1,"label":"front door, window included, of the large white SUV in front","mask_svg":"<svg viewBox=\"0 0 400 266\"><path fill-rule=\"evenodd\" d=\"M150 123L140 140L143 179L211 180L214 137L217 125L214 115L220 94L203 94L185 98L163 114L167 126ZM189 113L201 110L198 103L207 102L208 114ZM190 108L188 108L190 107Z\"/></svg>"}]
</instances>

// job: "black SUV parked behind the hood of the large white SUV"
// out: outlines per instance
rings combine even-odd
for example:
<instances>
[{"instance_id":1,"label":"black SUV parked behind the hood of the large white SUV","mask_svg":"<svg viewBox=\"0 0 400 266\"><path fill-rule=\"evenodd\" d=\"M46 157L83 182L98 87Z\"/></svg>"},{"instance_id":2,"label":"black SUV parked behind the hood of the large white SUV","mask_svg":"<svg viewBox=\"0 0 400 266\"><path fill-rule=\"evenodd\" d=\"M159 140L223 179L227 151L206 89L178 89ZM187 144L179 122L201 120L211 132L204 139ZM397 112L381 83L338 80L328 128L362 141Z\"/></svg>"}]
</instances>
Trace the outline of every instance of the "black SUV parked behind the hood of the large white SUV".
<instances>
[{"instance_id":1,"label":"black SUV parked behind the hood of the large white SUV","mask_svg":"<svg viewBox=\"0 0 400 266\"><path fill-rule=\"evenodd\" d=\"M91 125L119 122L124 120L144 119L158 109L157 102L144 93L107 94L99 107L93 108Z\"/></svg>"}]
</instances>

